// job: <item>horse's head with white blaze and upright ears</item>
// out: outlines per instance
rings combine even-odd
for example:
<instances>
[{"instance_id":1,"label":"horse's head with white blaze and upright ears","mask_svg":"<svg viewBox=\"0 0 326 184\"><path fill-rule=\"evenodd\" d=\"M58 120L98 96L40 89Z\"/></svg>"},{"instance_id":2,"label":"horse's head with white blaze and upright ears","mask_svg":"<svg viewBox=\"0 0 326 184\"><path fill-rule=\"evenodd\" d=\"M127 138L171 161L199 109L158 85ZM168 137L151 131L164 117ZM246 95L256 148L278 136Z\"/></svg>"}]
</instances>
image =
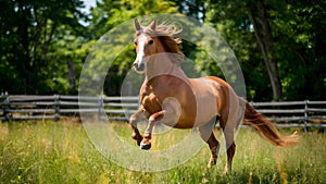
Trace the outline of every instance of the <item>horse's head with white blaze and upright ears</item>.
<instances>
[{"instance_id":1,"label":"horse's head with white blaze and upright ears","mask_svg":"<svg viewBox=\"0 0 326 184\"><path fill-rule=\"evenodd\" d=\"M146 68L146 60L149 56L156 52L156 37L151 37L148 33L154 33L156 27L156 21L153 21L148 27L142 27L135 20L136 38L134 40L136 45L137 58L134 62L134 69L142 73Z\"/></svg>"}]
</instances>

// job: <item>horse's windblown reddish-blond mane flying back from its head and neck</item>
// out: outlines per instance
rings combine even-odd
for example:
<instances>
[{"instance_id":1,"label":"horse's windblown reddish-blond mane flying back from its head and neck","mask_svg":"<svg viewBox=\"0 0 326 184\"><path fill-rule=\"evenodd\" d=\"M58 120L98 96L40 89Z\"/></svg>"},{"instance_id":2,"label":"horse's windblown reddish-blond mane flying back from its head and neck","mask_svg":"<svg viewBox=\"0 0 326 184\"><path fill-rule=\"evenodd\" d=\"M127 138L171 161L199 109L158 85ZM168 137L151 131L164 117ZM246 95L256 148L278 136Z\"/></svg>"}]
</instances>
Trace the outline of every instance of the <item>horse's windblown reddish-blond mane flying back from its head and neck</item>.
<instances>
[{"instance_id":1,"label":"horse's windblown reddish-blond mane flying back from its head and neck","mask_svg":"<svg viewBox=\"0 0 326 184\"><path fill-rule=\"evenodd\" d=\"M181 39L174 38L174 36L179 34L181 30L181 28L174 24L166 24L163 22L156 25L154 30L149 27L142 27L142 32L137 32L136 37L142 33L149 35L150 37L158 37L166 52L176 53L177 57L174 56L172 61L179 63L184 61L184 53L178 46L181 42Z\"/></svg>"}]
</instances>

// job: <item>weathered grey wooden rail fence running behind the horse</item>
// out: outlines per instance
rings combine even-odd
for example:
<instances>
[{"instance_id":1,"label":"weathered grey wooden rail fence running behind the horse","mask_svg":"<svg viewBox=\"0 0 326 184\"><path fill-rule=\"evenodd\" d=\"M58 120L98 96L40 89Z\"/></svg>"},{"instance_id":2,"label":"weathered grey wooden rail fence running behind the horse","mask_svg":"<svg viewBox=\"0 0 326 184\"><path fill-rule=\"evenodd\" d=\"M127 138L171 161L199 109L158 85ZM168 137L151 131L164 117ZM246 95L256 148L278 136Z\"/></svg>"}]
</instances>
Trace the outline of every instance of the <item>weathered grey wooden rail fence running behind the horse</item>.
<instances>
[{"instance_id":1,"label":"weathered grey wooden rail fence running behind the horse","mask_svg":"<svg viewBox=\"0 0 326 184\"><path fill-rule=\"evenodd\" d=\"M279 127L326 127L326 101L251 102ZM139 106L138 97L0 96L0 120L53 119L97 114L99 120L126 121Z\"/></svg>"}]
</instances>

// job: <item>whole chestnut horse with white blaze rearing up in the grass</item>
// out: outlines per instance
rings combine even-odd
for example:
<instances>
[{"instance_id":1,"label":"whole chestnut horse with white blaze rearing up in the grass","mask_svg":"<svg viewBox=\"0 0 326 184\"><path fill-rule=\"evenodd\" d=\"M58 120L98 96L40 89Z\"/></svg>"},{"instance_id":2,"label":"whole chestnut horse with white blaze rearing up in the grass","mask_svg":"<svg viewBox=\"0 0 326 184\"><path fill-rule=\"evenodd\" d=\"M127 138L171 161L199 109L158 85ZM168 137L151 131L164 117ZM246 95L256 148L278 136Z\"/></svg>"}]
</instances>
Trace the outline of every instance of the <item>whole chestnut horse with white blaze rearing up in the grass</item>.
<instances>
[{"instance_id":1,"label":"whole chestnut horse with white blaze rearing up in the grass","mask_svg":"<svg viewBox=\"0 0 326 184\"><path fill-rule=\"evenodd\" d=\"M198 128L200 137L209 145L211 158L206 168L216 164L220 142L213 130L216 123L223 130L227 160L225 173L231 171L236 151L235 131L243 124L252 126L263 138L279 147L298 143L294 132L281 136L276 126L258 113L250 103L238 97L233 87L216 76L189 78L179 66L184 54L179 49L180 39L174 36L181 32L166 23L141 26L135 19L136 60L133 68L146 77L139 90L140 107L130 115L131 137L141 149L151 148L153 126L164 123L175 128ZM137 123L148 121L143 136Z\"/></svg>"}]
</instances>

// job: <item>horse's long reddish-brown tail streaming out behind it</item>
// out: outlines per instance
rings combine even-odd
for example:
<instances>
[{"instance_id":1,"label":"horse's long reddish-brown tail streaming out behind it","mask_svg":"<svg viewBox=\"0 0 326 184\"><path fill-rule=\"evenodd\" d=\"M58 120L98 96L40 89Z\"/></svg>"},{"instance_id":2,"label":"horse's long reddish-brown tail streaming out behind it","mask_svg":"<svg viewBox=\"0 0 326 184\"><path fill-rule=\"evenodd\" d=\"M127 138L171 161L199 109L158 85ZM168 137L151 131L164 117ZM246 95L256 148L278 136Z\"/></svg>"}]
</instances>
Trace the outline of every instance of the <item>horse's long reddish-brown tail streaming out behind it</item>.
<instances>
[{"instance_id":1,"label":"horse's long reddish-brown tail streaming out behind it","mask_svg":"<svg viewBox=\"0 0 326 184\"><path fill-rule=\"evenodd\" d=\"M276 126L264 115L256 112L248 101L246 101L244 124L252 126L262 137L276 146L292 146L299 142L297 132L289 136L280 136Z\"/></svg>"}]
</instances>

